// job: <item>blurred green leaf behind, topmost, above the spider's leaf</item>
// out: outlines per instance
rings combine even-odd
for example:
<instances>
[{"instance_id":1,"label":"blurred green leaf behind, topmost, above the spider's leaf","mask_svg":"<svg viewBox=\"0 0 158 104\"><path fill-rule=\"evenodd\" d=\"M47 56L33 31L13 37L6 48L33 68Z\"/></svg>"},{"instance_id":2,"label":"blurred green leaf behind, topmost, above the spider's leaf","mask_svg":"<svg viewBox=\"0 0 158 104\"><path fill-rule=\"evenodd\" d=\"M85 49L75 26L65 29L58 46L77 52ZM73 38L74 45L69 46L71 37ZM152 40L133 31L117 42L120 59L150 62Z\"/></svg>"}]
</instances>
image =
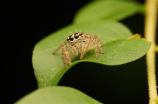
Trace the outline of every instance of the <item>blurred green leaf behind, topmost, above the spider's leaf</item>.
<instances>
[{"instance_id":1,"label":"blurred green leaf behind, topmost, above the spider's leaf","mask_svg":"<svg viewBox=\"0 0 158 104\"><path fill-rule=\"evenodd\" d=\"M74 23L99 19L122 20L141 12L142 8L142 4L132 0L95 0L77 12Z\"/></svg>"}]
</instances>

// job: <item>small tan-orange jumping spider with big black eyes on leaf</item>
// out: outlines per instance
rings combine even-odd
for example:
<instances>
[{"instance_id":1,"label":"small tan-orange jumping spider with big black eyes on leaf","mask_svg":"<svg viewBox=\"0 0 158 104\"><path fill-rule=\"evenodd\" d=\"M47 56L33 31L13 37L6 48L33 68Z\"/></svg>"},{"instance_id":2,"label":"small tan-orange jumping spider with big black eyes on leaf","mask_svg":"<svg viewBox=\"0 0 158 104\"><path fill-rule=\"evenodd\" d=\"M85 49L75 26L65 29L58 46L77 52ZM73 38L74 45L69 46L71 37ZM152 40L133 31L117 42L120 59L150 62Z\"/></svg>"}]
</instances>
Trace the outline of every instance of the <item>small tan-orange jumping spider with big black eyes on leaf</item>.
<instances>
[{"instance_id":1,"label":"small tan-orange jumping spider with big black eyes on leaf","mask_svg":"<svg viewBox=\"0 0 158 104\"><path fill-rule=\"evenodd\" d=\"M69 43L69 46L66 44ZM54 52L55 54L60 48L62 48L62 58L64 66L67 68L66 60L69 64L71 64L71 60L69 58L69 54L78 55L80 54L80 59L82 59L86 53L86 51L95 48L96 58L98 58L98 45L103 54L102 44L100 39L92 34L83 34L82 32L77 32L70 35L64 43L62 43Z\"/></svg>"}]
</instances>

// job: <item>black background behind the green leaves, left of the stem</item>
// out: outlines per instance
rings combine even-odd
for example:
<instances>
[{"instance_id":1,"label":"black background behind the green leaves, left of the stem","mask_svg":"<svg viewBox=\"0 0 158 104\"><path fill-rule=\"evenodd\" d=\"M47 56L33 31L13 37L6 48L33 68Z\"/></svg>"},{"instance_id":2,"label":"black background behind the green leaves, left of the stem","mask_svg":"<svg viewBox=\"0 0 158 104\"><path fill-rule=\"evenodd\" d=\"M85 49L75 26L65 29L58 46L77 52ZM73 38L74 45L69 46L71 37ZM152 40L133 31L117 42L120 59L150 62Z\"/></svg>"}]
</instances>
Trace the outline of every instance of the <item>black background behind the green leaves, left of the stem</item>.
<instances>
[{"instance_id":1,"label":"black background behind the green leaves, left of the stem","mask_svg":"<svg viewBox=\"0 0 158 104\"><path fill-rule=\"evenodd\" d=\"M2 102L13 103L37 89L31 62L34 45L71 24L77 10L88 2L0 1ZM143 15L121 22L133 33L143 34ZM59 85L79 89L105 104L148 103L145 57L120 66L80 63L64 75Z\"/></svg>"}]
</instances>

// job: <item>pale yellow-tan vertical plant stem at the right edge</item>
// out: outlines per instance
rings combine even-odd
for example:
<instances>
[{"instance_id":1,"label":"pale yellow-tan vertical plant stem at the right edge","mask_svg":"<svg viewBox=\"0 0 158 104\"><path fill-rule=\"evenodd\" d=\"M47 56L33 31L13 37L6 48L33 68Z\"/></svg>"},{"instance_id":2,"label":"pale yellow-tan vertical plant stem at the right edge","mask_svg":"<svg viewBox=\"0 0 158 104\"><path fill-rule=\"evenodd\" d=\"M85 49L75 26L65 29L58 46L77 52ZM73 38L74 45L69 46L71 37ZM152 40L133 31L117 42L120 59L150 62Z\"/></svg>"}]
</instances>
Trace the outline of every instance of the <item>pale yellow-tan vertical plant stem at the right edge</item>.
<instances>
[{"instance_id":1,"label":"pale yellow-tan vertical plant stem at the right edge","mask_svg":"<svg viewBox=\"0 0 158 104\"><path fill-rule=\"evenodd\" d=\"M146 0L145 38L152 42L146 55L149 86L149 104L156 104L157 88L155 77L155 34L157 23L157 0Z\"/></svg>"}]
</instances>

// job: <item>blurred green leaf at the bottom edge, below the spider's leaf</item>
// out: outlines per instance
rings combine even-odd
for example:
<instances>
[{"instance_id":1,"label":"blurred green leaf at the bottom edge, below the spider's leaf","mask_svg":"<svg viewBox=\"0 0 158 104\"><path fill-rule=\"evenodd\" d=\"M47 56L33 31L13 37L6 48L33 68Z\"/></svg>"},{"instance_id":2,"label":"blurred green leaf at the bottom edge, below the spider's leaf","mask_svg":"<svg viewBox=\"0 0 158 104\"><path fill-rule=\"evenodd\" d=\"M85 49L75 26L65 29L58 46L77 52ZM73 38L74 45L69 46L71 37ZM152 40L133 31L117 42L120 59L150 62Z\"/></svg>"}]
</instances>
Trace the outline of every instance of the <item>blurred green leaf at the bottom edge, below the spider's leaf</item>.
<instances>
[{"instance_id":1,"label":"blurred green leaf at the bottom edge, below the spider's leaf","mask_svg":"<svg viewBox=\"0 0 158 104\"><path fill-rule=\"evenodd\" d=\"M45 87L38 89L15 104L102 104L88 95L70 87Z\"/></svg>"}]
</instances>

